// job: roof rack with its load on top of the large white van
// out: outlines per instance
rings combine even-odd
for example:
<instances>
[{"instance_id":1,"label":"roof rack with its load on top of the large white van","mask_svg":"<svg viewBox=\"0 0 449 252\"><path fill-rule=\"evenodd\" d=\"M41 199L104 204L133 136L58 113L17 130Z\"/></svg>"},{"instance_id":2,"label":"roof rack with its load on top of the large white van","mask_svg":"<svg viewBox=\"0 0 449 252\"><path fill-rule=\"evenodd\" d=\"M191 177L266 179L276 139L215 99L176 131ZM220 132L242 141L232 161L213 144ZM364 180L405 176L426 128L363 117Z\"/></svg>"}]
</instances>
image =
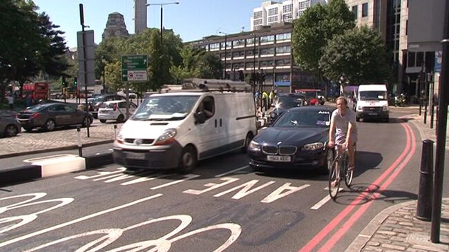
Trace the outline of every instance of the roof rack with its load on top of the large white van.
<instances>
[{"instance_id":1,"label":"roof rack with its load on top of the large white van","mask_svg":"<svg viewBox=\"0 0 449 252\"><path fill-rule=\"evenodd\" d=\"M200 89L202 91L229 91L229 92L251 92L251 85L244 81L231 81L229 79L184 79L183 90Z\"/></svg>"}]
</instances>

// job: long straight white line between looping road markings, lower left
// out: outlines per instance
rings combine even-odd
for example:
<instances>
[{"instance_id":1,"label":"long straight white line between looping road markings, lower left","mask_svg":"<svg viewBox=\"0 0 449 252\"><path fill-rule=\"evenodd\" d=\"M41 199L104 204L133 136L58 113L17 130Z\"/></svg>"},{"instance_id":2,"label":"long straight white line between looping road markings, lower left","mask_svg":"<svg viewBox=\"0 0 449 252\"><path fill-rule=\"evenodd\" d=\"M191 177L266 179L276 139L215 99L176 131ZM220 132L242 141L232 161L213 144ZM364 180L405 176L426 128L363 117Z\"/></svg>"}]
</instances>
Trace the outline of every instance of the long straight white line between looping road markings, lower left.
<instances>
[{"instance_id":1,"label":"long straight white line between looping road markings, lower left","mask_svg":"<svg viewBox=\"0 0 449 252\"><path fill-rule=\"evenodd\" d=\"M128 206L133 206L133 205L135 205L135 204L139 204L140 202L144 202L144 201L146 201L146 200L152 200L152 199L154 199L154 198L156 198L156 197L160 197L160 196L162 196L162 195L163 195L162 193L157 193L157 194L152 195L152 196L150 196L150 197L144 197L143 199L135 200L135 201L133 201L133 202L129 202L129 203L124 204L124 205L122 205L122 206L115 206L115 207L112 208L112 209L106 209L106 210L104 210L104 211L99 211L99 212L93 213L93 214L91 214L91 215L86 215L86 216L84 216L84 217L80 217L80 218L78 218L78 219L76 219L76 220L71 220L70 222L65 222L65 223L58 224L58 225L56 225L56 226L51 226L51 227L49 227L49 228L47 228L47 229L41 229L40 231L37 231L37 232L35 232L35 233L29 233L28 235L23 235L23 236L21 236L21 237L15 238L15 239L8 240L8 241L6 241L6 242L2 242L2 243L0 243L0 248L3 247L3 246L9 245L9 244L13 244L13 243L15 243L15 242L19 242L19 241L21 241L21 240L26 240L26 239L28 239L28 238L32 238L32 237L34 237L34 236L36 236L36 235L41 235L41 234L43 234L43 233L47 233L47 232L50 232L50 231L53 231L53 230L56 230L56 229L60 229L60 228L62 228L62 227L64 227L64 226L69 226L69 225L75 224L75 223L77 223L77 222L82 222L82 221L84 221L84 220L88 220L88 219L90 219L90 218L97 217L97 216L99 216L99 215L103 215L103 214L105 214L105 213L111 213L111 212L116 211L116 210L119 210L119 209L124 209L124 208L126 208L126 207L128 207Z\"/></svg>"}]
</instances>

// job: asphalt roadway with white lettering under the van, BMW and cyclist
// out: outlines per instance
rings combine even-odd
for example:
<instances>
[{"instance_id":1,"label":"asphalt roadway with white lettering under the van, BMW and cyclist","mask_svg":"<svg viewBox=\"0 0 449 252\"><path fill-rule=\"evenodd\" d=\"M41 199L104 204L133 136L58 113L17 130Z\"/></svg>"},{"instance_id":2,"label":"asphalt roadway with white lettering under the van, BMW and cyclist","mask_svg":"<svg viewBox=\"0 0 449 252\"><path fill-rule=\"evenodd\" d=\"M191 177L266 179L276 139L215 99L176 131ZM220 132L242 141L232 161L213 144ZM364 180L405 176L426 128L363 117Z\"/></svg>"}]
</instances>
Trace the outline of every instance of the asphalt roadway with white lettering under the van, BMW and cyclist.
<instances>
[{"instance_id":1,"label":"asphalt roadway with white lettering under the van, BMW and cyclist","mask_svg":"<svg viewBox=\"0 0 449 252\"><path fill-rule=\"evenodd\" d=\"M111 165L6 186L0 251L344 251L379 211L417 199L421 139L403 122L358 123L353 191L336 202L327 176L254 172L240 153L189 175Z\"/></svg>"}]
</instances>

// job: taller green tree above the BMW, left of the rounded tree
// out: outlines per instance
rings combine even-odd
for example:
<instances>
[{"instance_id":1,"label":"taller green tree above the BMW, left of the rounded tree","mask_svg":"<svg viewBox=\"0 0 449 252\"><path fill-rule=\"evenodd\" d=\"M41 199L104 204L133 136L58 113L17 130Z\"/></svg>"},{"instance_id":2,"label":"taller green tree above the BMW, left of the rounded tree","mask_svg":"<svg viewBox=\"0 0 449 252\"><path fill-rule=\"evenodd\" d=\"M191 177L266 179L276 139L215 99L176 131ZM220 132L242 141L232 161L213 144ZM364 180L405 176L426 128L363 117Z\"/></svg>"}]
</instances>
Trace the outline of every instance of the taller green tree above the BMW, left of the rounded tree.
<instances>
[{"instance_id":1,"label":"taller green tree above the BMW, left of the rounded tree","mask_svg":"<svg viewBox=\"0 0 449 252\"><path fill-rule=\"evenodd\" d=\"M354 14L344 0L332 0L324 6L318 3L308 8L294 21L292 51L296 64L321 79L318 62L327 42L354 26Z\"/></svg>"}]
</instances>

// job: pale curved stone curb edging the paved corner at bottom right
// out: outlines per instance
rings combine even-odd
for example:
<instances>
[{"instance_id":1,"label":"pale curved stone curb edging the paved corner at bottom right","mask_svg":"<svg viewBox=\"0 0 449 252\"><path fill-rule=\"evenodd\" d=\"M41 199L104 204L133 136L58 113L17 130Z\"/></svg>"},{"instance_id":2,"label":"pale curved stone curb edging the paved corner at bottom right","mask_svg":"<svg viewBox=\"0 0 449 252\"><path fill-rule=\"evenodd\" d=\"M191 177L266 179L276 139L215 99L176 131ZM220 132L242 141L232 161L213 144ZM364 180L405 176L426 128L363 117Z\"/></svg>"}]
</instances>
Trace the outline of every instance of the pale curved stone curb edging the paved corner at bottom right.
<instances>
[{"instance_id":1,"label":"pale curved stone curb edging the paved corner at bottom right","mask_svg":"<svg viewBox=\"0 0 449 252\"><path fill-rule=\"evenodd\" d=\"M408 202L403 202L400 204L396 204L393 206L388 207L387 209L383 209L381 213L378 213L374 219L371 220L370 223L365 226L365 229L363 229L359 235L352 241L350 246L347 247L345 252L359 252L361 251L367 242L372 238L372 235L376 233L377 229L381 226L381 224L385 221L385 219L398 209L403 208L404 206L408 206L411 204L414 204L417 202L417 200L410 200Z\"/></svg>"}]
</instances>

